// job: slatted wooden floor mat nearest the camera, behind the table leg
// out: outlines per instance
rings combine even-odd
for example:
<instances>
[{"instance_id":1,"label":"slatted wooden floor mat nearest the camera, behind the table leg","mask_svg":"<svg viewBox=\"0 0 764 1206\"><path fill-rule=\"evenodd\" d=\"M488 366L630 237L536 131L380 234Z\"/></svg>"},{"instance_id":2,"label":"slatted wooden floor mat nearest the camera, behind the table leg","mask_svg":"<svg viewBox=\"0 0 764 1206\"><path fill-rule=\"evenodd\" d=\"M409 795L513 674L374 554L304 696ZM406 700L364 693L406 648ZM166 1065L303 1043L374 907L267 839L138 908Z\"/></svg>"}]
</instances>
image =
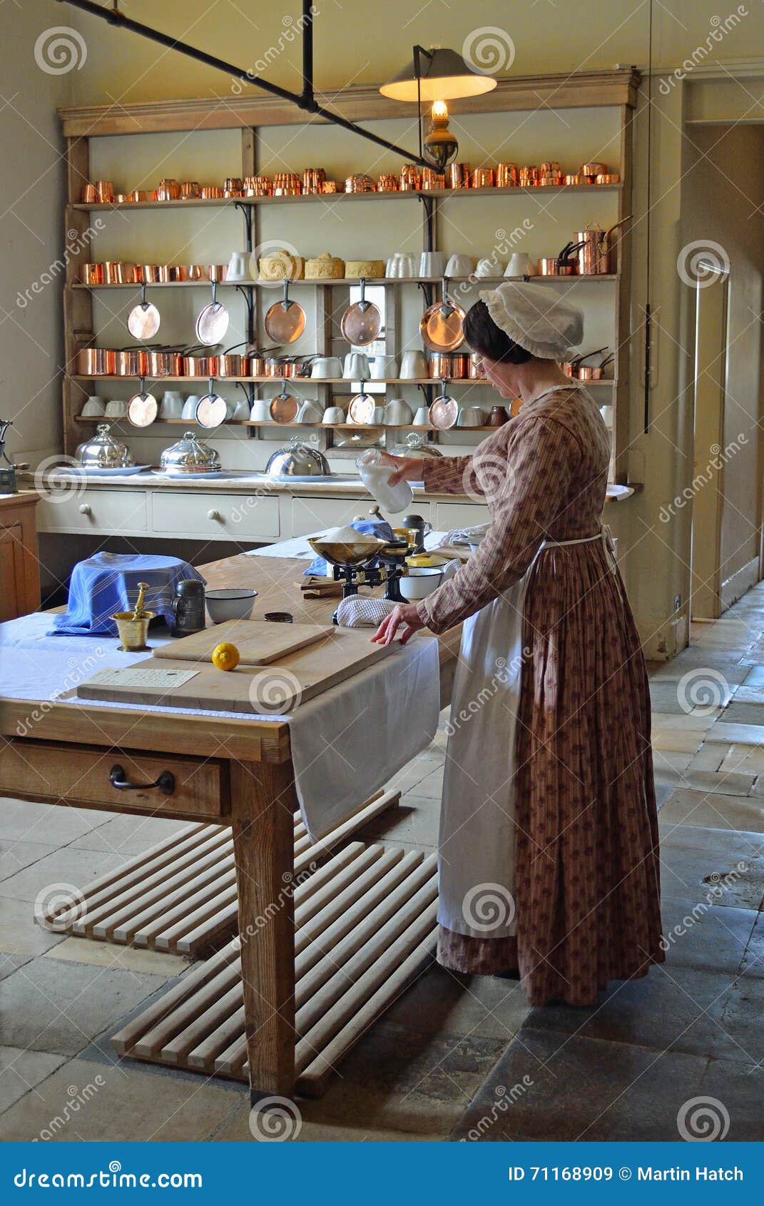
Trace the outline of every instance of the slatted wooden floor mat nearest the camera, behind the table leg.
<instances>
[{"instance_id":1,"label":"slatted wooden floor mat nearest the camera, behind the table leg","mask_svg":"<svg viewBox=\"0 0 764 1206\"><path fill-rule=\"evenodd\" d=\"M433 958L436 857L353 842L295 889L294 903L296 1091L318 1096ZM247 1081L239 937L112 1043L135 1059Z\"/></svg>"}]
</instances>

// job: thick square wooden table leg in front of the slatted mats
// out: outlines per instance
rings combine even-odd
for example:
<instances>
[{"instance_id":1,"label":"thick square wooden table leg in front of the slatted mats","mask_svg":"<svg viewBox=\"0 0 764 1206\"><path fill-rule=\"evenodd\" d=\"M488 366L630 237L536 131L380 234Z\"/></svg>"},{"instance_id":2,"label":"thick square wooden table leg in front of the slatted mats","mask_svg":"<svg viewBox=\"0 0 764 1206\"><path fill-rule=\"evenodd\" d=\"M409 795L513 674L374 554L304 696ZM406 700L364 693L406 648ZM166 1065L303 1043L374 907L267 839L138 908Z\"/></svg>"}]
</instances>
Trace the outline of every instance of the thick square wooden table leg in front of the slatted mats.
<instances>
[{"instance_id":1,"label":"thick square wooden table leg in front of the slatted mats","mask_svg":"<svg viewBox=\"0 0 764 1206\"><path fill-rule=\"evenodd\" d=\"M294 1094L292 763L230 762L241 974L253 1103Z\"/></svg>"}]
</instances>

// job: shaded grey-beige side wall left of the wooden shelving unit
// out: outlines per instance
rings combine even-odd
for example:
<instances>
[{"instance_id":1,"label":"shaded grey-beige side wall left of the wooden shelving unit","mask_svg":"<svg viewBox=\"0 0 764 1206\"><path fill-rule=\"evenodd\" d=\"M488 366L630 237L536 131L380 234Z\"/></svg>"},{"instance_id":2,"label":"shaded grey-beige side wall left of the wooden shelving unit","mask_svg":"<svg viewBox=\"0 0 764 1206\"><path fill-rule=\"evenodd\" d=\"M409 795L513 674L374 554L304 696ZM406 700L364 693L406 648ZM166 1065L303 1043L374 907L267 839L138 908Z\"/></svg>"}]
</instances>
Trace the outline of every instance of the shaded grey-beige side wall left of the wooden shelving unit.
<instances>
[{"instance_id":1,"label":"shaded grey-beige side wall left of the wooden shelving unit","mask_svg":"<svg viewBox=\"0 0 764 1206\"><path fill-rule=\"evenodd\" d=\"M39 35L60 17L49 0L5 5L0 17L0 415L13 418L16 458L34 462L61 440L64 163L55 107L67 103L71 76L48 75L35 62Z\"/></svg>"}]
</instances>

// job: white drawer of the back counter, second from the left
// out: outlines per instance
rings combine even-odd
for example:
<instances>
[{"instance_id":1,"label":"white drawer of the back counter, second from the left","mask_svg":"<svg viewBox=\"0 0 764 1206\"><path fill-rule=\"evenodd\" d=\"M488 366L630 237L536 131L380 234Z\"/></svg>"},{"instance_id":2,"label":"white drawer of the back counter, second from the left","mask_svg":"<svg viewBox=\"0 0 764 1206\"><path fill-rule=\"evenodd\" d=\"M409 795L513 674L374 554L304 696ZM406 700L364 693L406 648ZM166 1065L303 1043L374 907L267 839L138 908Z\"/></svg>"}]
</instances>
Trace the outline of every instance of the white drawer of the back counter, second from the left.
<instances>
[{"instance_id":1,"label":"white drawer of the back counter, second from the left","mask_svg":"<svg viewBox=\"0 0 764 1206\"><path fill-rule=\"evenodd\" d=\"M192 539L274 540L280 532L278 498L158 490L152 494L152 532Z\"/></svg>"}]
</instances>

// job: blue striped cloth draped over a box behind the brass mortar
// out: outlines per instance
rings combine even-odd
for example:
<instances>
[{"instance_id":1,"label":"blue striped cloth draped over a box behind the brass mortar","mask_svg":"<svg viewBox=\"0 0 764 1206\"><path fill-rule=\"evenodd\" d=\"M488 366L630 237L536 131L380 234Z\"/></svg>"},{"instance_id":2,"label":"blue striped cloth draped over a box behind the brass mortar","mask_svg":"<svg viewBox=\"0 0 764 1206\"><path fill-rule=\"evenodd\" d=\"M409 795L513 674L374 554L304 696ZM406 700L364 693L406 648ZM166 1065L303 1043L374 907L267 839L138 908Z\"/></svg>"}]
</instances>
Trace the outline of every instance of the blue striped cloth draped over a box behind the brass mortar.
<instances>
[{"instance_id":1,"label":"blue striped cloth draped over a box behind the brass mortar","mask_svg":"<svg viewBox=\"0 0 764 1206\"><path fill-rule=\"evenodd\" d=\"M114 611L133 610L139 582L148 582L143 599L146 610L155 611L169 622L172 619L171 602L182 578L205 581L198 569L180 557L96 552L72 569L66 611L55 616L48 636L116 637L117 625L111 616Z\"/></svg>"}]
</instances>

